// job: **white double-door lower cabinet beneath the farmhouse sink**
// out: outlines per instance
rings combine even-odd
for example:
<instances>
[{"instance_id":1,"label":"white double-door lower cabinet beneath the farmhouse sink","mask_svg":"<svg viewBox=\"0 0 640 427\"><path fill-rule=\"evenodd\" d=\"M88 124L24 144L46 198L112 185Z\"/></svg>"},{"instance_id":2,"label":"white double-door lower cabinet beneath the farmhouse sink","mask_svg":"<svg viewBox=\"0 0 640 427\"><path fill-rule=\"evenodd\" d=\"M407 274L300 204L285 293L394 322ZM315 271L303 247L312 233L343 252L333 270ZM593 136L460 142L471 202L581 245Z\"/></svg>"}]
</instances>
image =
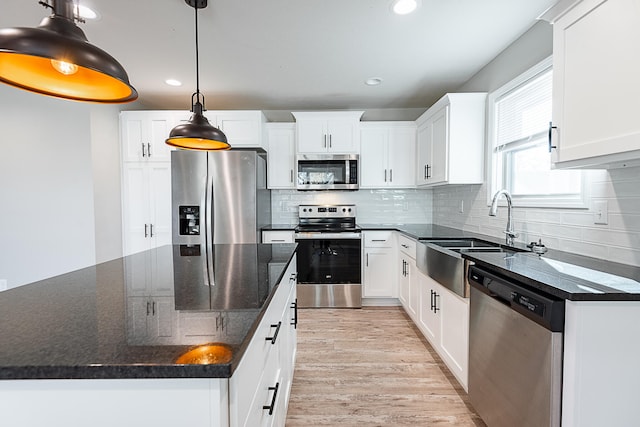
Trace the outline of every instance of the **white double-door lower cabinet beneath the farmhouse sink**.
<instances>
[{"instance_id":1,"label":"white double-door lower cabinet beneath the farmhouse sink","mask_svg":"<svg viewBox=\"0 0 640 427\"><path fill-rule=\"evenodd\" d=\"M420 288L418 328L451 373L467 390L469 378L469 299L417 273Z\"/></svg>"}]
</instances>

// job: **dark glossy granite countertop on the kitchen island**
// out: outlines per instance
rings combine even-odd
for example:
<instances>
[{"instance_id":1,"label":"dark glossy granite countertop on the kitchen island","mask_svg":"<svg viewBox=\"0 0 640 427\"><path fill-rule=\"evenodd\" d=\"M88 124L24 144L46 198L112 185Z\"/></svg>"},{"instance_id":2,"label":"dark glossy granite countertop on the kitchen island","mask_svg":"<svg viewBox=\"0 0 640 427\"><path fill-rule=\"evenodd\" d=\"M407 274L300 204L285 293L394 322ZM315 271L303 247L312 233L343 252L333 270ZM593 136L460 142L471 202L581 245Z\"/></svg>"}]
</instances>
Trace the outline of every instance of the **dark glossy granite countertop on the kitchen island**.
<instances>
[{"instance_id":1,"label":"dark glossy granite countertop on the kitchen island","mask_svg":"<svg viewBox=\"0 0 640 427\"><path fill-rule=\"evenodd\" d=\"M163 246L0 294L0 379L228 378L295 244ZM206 343L228 363L180 365Z\"/></svg>"}]
</instances>

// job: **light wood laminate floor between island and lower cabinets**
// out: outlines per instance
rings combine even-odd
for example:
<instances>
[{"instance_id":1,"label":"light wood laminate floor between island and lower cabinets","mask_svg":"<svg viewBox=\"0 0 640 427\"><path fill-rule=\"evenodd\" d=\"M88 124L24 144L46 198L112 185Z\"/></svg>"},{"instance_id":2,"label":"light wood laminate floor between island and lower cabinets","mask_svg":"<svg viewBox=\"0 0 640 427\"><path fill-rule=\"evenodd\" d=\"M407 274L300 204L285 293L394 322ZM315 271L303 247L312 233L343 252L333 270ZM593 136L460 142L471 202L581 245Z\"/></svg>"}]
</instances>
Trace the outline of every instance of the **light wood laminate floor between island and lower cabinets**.
<instances>
[{"instance_id":1,"label":"light wood laminate floor between island and lower cabinets","mask_svg":"<svg viewBox=\"0 0 640 427\"><path fill-rule=\"evenodd\" d=\"M399 307L301 309L287 414L297 426L485 426Z\"/></svg>"}]
</instances>

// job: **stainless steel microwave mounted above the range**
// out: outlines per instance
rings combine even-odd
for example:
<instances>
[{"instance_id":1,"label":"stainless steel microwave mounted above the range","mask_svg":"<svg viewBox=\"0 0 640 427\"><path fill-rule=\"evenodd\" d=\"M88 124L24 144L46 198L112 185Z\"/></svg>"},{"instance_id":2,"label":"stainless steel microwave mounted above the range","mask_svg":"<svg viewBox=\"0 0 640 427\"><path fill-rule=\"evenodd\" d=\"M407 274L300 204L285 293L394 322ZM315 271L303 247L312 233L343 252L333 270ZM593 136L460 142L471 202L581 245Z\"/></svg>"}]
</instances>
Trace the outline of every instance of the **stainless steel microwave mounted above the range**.
<instances>
[{"instance_id":1,"label":"stainless steel microwave mounted above the range","mask_svg":"<svg viewBox=\"0 0 640 427\"><path fill-rule=\"evenodd\" d=\"M298 190L357 190L357 154L299 154Z\"/></svg>"}]
</instances>

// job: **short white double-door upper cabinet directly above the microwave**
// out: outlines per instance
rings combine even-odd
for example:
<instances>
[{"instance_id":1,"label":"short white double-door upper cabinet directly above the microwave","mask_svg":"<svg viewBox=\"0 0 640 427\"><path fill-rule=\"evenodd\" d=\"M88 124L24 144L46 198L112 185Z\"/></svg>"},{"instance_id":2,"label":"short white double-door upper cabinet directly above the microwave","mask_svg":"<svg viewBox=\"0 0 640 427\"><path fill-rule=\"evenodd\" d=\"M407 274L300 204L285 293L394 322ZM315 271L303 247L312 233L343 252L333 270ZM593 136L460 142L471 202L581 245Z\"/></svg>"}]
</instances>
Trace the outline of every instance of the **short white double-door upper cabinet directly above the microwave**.
<instances>
[{"instance_id":1,"label":"short white double-door upper cabinet directly above the microwave","mask_svg":"<svg viewBox=\"0 0 640 427\"><path fill-rule=\"evenodd\" d=\"M360 153L363 111L297 112L298 153Z\"/></svg>"}]
</instances>

